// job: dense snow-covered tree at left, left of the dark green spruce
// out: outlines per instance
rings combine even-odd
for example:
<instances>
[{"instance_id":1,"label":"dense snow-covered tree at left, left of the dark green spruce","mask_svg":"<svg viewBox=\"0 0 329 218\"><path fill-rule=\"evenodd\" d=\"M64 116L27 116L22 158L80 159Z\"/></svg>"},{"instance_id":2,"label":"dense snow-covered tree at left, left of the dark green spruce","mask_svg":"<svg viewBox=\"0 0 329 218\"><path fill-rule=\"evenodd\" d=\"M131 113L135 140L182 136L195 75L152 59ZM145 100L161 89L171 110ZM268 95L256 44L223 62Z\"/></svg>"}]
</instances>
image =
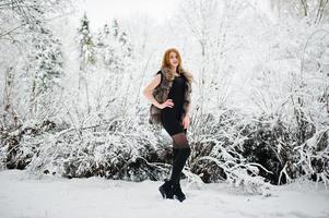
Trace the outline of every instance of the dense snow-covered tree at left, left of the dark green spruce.
<instances>
[{"instance_id":1,"label":"dense snow-covered tree at left, left of the dark green spruce","mask_svg":"<svg viewBox=\"0 0 329 218\"><path fill-rule=\"evenodd\" d=\"M38 29L39 33L34 33L32 37L32 49L25 68L31 78L28 93L30 110L33 113L37 112L37 108L45 108L49 104L51 93L60 87L59 80L64 74L59 39L45 26L39 26Z\"/></svg>"}]
</instances>

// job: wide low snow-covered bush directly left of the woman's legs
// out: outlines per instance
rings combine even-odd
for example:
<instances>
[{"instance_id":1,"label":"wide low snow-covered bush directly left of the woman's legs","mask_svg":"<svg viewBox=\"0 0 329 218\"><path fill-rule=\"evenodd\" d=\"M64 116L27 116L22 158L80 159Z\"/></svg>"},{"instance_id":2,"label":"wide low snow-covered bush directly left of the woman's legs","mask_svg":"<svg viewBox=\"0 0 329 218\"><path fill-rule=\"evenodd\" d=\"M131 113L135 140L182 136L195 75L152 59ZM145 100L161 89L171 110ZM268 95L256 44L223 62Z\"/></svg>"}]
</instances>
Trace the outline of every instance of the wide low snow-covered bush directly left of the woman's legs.
<instances>
[{"instance_id":1,"label":"wide low snow-covered bush directly left of the woman's legs","mask_svg":"<svg viewBox=\"0 0 329 218\"><path fill-rule=\"evenodd\" d=\"M99 125L78 130L21 133L20 145L11 155L12 165L15 161L16 168L20 165L31 172L67 178L161 180L168 173L169 146L137 122L129 117L113 117Z\"/></svg>"}]
</instances>

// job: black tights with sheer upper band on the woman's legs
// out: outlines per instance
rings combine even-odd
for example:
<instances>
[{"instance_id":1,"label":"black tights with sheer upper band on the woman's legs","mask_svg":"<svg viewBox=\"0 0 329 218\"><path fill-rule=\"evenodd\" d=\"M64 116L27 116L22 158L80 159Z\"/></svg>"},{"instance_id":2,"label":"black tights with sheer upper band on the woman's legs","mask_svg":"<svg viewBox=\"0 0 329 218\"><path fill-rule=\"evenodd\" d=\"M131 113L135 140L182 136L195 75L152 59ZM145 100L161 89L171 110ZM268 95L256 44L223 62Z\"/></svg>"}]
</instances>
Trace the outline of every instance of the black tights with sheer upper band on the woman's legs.
<instances>
[{"instance_id":1,"label":"black tights with sheer upper band on the woman's legs","mask_svg":"<svg viewBox=\"0 0 329 218\"><path fill-rule=\"evenodd\" d=\"M183 168L190 155L190 146L186 137L186 133L177 133L173 137L173 171L171 180L174 185L177 185L180 180Z\"/></svg>"}]
</instances>

